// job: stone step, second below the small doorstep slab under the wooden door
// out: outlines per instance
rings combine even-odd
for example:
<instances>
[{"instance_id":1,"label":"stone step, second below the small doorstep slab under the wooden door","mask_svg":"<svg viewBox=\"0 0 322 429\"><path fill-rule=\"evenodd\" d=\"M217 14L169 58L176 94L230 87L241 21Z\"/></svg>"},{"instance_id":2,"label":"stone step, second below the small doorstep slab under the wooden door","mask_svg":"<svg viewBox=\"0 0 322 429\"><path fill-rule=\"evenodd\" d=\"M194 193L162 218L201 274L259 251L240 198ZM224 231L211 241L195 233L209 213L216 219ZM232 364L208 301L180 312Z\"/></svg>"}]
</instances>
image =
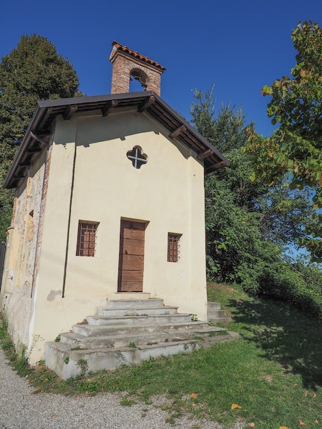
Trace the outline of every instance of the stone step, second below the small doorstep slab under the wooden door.
<instances>
[{"instance_id":1,"label":"stone step, second below the small doorstep slab under the wooden door","mask_svg":"<svg viewBox=\"0 0 322 429\"><path fill-rule=\"evenodd\" d=\"M175 313L177 313L177 307L173 306L97 307L98 316L173 315Z\"/></svg>"}]
</instances>

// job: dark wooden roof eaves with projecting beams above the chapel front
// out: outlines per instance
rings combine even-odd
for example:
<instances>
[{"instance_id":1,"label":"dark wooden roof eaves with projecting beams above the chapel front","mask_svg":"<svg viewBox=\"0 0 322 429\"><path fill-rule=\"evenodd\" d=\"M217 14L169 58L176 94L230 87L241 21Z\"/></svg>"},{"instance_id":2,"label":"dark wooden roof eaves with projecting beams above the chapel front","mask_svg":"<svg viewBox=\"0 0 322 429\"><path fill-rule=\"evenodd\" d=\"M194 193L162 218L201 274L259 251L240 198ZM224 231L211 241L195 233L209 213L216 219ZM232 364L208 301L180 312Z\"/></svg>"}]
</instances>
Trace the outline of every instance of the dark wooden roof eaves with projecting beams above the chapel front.
<instances>
[{"instance_id":1,"label":"dark wooden roof eaves with projecting beams above the chapel front","mask_svg":"<svg viewBox=\"0 0 322 429\"><path fill-rule=\"evenodd\" d=\"M149 99L153 100L153 103L147 103ZM112 94L112 95L95 95L90 97L74 97L69 99L53 99L38 101L34 117L25 133L23 141L18 149L16 157L12 162L12 165L8 171L8 175L5 177L5 182L3 183L3 188L9 188L16 186L16 181L14 180L14 174L19 169L19 164L25 157L25 153L30 145L35 141L35 136L39 135L48 135L49 134L49 125L58 116L58 114L63 114L66 112L67 108L74 107L72 112L78 111L93 111L101 109L106 106L106 103L111 103L112 101L117 101L117 107L119 106L137 106L139 109L140 106L147 103L147 113L151 116L156 117L156 119L162 123L167 130L169 130L169 135L174 133L182 143L188 145L195 150L199 159L203 160L205 166L205 172L209 173L216 169L223 168L230 165L230 162L216 149L212 146L206 138L201 136L201 134L195 130L182 116L180 116L173 108L171 108L159 95L153 91L141 91L138 93L123 93L123 94ZM158 107L154 108L153 105ZM163 117L163 119L161 119ZM67 119L70 117L68 116ZM49 125L48 125L49 124ZM181 130L179 130L181 128ZM179 130L182 134L176 134L176 130ZM195 142L195 144L193 143ZM196 145L197 143L197 145Z\"/></svg>"}]
</instances>

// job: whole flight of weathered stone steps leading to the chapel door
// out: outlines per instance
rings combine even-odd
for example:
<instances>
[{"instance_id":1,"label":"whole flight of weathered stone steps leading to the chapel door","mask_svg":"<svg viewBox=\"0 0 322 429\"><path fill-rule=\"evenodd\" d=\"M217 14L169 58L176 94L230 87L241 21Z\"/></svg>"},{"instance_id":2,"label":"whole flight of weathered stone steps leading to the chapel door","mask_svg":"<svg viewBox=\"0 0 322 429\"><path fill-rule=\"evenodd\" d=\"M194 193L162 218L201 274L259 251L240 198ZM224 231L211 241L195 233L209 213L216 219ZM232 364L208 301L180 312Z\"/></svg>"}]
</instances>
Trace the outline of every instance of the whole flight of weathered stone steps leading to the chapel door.
<instances>
[{"instance_id":1,"label":"whole flight of weathered stone steps leading to the chapel door","mask_svg":"<svg viewBox=\"0 0 322 429\"><path fill-rule=\"evenodd\" d=\"M221 315L220 304L214 307ZM164 306L162 299L110 300L97 308L97 315L73 326L73 332L60 334L60 342L46 343L45 361L66 379L236 338L238 334L208 321L192 321L177 307Z\"/></svg>"}]
</instances>

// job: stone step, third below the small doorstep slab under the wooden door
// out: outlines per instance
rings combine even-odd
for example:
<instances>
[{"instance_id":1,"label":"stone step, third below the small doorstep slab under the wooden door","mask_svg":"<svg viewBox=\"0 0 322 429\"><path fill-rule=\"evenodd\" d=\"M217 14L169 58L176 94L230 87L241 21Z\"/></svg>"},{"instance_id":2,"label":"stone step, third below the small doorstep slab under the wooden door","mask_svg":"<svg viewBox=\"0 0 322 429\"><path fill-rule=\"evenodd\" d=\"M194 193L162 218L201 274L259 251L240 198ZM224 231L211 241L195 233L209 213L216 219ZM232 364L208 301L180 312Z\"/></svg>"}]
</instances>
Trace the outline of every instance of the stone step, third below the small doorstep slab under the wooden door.
<instances>
[{"instance_id":1,"label":"stone step, third below the small doorstep slab under the wooden door","mask_svg":"<svg viewBox=\"0 0 322 429\"><path fill-rule=\"evenodd\" d=\"M171 323L172 321L190 322L191 315L185 313L175 314L151 314L151 315L123 315L123 316L87 316L86 321L88 325L143 325L145 323L151 324L164 324Z\"/></svg>"}]
</instances>

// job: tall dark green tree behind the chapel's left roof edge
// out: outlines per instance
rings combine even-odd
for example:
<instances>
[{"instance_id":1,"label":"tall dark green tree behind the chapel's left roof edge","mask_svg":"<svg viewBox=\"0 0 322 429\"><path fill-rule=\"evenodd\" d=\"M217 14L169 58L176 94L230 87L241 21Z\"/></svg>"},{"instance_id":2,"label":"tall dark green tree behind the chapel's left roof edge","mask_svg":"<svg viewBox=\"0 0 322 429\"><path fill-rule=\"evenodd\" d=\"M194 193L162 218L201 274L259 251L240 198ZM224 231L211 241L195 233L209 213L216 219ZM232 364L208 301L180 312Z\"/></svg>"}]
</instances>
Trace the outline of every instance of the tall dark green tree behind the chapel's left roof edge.
<instances>
[{"instance_id":1,"label":"tall dark green tree behind the chapel's left roof edge","mask_svg":"<svg viewBox=\"0 0 322 429\"><path fill-rule=\"evenodd\" d=\"M0 63L0 184L42 99L74 97L78 77L47 38L22 36ZM0 191L0 242L10 225L12 191Z\"/></svg>"}]
</instances>

